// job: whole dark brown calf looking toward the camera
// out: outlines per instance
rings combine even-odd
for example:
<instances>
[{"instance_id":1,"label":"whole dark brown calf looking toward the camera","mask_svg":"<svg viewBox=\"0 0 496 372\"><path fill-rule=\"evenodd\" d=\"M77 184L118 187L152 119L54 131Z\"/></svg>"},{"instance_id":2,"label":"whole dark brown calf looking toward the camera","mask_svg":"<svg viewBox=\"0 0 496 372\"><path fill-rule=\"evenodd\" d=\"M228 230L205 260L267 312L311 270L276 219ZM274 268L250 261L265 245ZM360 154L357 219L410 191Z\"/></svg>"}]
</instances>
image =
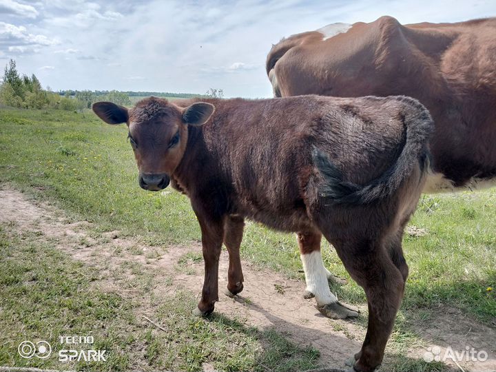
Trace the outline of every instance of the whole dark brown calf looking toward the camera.
<instances>
[{"instance_id":1,"label":"whole dark brown calf looking toward the camera","mask_svg":"<svg viewBox=\"0 0 496 372\"><path fill-rule=\"evenodd\" d=\"M424 187L432 123L420 103L298 96L179 107L152 97L131 110L108 102L93 110L107 123L127 123L143 189L172 182L189 196L205 259L198 313L211 313L218 300L223 242L227 288L242 291L243 218L297 232L300 240L323 234L369 305L355 371L382 362L408 275L403 229ZM328 305L341 311L337 302Z\"/></svg>"}]
</instances>

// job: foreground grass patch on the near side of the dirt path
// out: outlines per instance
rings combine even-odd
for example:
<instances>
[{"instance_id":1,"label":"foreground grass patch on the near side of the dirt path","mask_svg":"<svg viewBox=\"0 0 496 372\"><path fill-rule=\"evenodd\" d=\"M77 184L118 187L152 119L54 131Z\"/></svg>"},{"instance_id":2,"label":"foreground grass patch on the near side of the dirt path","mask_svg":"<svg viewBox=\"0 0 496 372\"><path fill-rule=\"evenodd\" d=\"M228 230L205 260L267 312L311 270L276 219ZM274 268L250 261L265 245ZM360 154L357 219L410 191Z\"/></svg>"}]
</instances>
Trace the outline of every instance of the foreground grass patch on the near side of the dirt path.
<instances>
[{"instance_id":1,"label":"foreground grass patch on the near side of the dirt path","mask_svg":"<svg viewBox=\"0 0 496 372\"><path fill-rule=\"evenodd\" d=\"M112 271L109 278L102 274L105 262L87 267L53 245L39 234L19 235L0 227L0 366L196 372L208 362L220 371L283 372L316 364L318 351L298 347L274 331L246 327L236 317L193 316L196 300L189 291L155 298L150 289L159 283L136 262ZM125 269L134 274L131 281ZM104 291L95 285L102 280L112 280L124 291ZM121 295L128 288L133 298ZM152 313L167 332L144 324L139 313ZM63 349L60 335L92 335L94 344L74 349L106 350L107 360L23 359L12 352L24 340L45 340L57 355Z\"/></svg>"}]
</instances>

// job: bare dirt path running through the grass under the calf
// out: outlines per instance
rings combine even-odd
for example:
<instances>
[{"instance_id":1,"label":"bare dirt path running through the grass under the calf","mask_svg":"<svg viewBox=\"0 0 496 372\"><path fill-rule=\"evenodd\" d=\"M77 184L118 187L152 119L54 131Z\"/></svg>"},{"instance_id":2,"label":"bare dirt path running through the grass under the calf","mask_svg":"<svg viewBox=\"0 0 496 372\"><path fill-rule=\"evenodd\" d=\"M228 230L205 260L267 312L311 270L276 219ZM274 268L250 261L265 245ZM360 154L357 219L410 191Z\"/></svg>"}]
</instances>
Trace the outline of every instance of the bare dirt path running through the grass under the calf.
<instances>
[{"instance_id":1,"label":"bare dirt path running through the grass under the calf","mask_svg":"<svg viewBox=\"0 0 496 372\"><path fill-rule=\"evenodd\" d=\"M170 268L177 264L181 256L201 251L200 245L169 247L165 254L160 253L156 259L149 260L146 255L134 255L125 248L138 246L138 249L153 251L154 247L139 245L132 239L118 238L118 232L105 233L107 240L104 243L89 244L87 247L81 244L82 240L90 243L94 241L88 232L87 222L67 223L63 211L44 203L37 205L6 186L0 189L0 211L0 223L8 225L10 229L40 231L43 236L54 239L56 247L74 259L87 262L88 265L92 265L94 260L105 260L105 267L109 270L118 267L123 261L132 260L146 263L147 267L156 269L155 272L170 274ZM124 253L114 254L118 248ZM227 253L223 251L219 272L220 291L227 285L227 265ZM300 345L313 345L321 353L322 366L344 367L344 360L360 349L364 329L353 322L329 320L321 316L313 307L313 300L302 298L303 282L261 270L249 262L242 262L242 265L245 290L235 299L220 294L220 301L216 304L217 312L227 317L236 315L247 324L262 329L272 327ZM199 296L203 285L203 262L190 262L187 273L176 273L173 280L172 287L185 287ZM112 287L112 282L106 285ZM114 290L118 291L117 288ZM162 289L157 287L154 291L160 294ZM442 353L448 346L459 351L464 351L465 345L485 350L489 354L486 362L464 361L459 362L460 366L465 371L496 371L496 329L469 320L459 311L443 311L436 314L435 319L435 322L431 320L429 324L419 324L417 333L424 337L427 344L440 347ZM422 358L425 352L426 349L417 348L409 352L409 357ZM453 366L456 367L455 364ZM453 371L461 369L456 367Z\"/></svg>"}]
</instances>

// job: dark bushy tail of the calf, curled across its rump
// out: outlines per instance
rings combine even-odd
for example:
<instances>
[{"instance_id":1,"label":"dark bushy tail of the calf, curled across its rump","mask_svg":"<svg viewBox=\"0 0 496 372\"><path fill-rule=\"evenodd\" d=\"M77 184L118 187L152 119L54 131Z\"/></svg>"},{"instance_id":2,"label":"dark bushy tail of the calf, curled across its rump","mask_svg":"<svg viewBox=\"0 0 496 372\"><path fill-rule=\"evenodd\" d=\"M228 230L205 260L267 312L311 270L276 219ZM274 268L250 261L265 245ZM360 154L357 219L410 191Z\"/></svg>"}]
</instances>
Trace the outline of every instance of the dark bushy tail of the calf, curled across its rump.
<instances>
[{"instance_id":1,"label":"dark bushy tail of the calf, curled across its rump","mask_svg":"<svg viewBox=\"0 0 496 372\"><path fill-rule=\"evenodd\" d=\"M397 96L405 103L401 112L406 136L404 146L396 162L380 177L367 185L357 185L344 180L343 174L327 154L313 149L313 163L324 178L318 190L319 196L334 204L363 205L380 201L391 196L420 165L422 172L428 167L427 140L433 130L433 120L428 110L415 99Z\"/></svg>"}]
</instances>

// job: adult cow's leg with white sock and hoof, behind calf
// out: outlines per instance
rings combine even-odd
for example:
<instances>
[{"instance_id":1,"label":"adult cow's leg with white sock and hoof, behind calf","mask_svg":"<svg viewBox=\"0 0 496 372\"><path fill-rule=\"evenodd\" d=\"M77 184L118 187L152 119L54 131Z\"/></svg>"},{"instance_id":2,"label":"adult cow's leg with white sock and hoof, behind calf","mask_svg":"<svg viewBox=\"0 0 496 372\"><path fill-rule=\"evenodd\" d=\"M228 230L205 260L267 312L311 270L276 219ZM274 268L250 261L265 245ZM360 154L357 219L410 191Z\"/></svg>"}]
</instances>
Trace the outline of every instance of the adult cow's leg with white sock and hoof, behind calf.
<instances>
[{"instance_id":1,"label":"adult cow's leg with white sock and hoof, behind calf","mask_svg":"<svg viewBox=\"0 0 496 372\"><path fill-rule=\"evenodd\" d=\"M327 282L327 273L329 271L324 267L322 254L320 253L322 234L316 231L299 232L297 238L305 281L307 282L305 293L312 293L315 296L318 310L327 318L332 319L358 316L356 309L338 302L338 299L329 289L329 283Z\"/></svg>"}]
</instances>

